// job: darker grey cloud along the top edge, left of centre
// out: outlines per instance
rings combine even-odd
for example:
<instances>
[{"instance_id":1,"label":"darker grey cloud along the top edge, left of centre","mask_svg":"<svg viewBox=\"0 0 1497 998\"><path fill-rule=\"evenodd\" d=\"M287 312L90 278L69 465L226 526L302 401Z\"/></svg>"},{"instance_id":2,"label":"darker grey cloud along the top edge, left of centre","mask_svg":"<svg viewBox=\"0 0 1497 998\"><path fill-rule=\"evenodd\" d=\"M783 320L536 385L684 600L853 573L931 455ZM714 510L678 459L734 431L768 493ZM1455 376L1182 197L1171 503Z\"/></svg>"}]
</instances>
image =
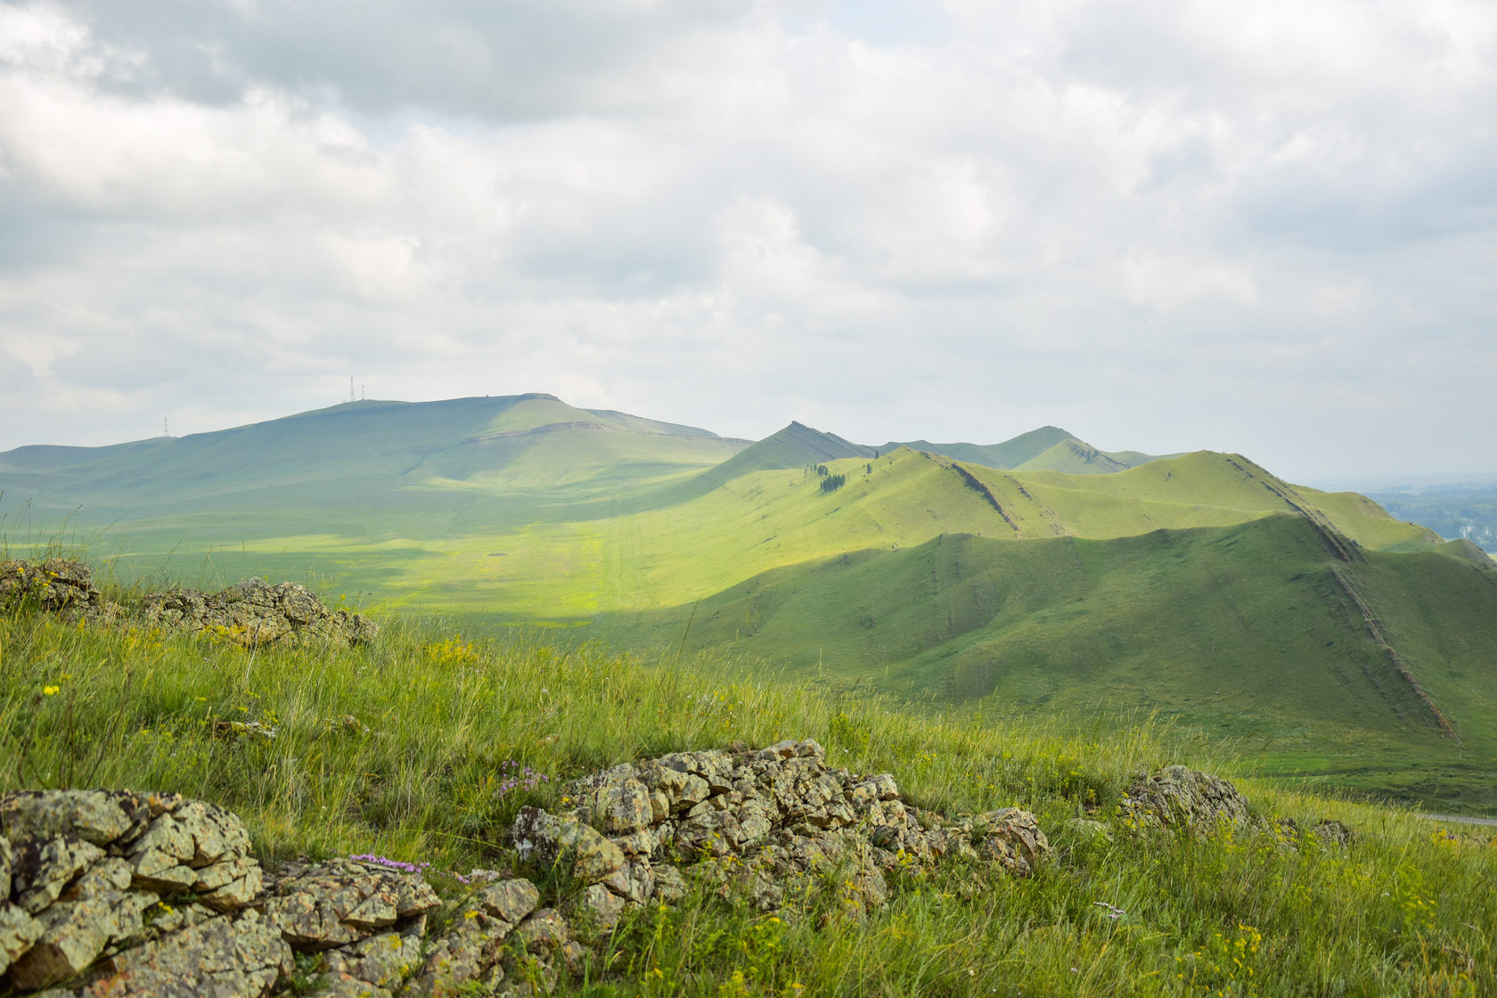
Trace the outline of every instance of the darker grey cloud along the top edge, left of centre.
<instances>
[{"instance_id":1,"label":"darker grey cloud along the top edge, left of centre","mask_svg":"<svg viewBox=\"0 0 1497 998\"><path fill-rule=\"evenodd\" d=\"M73 0L103 42L150 54L114 85L229 103L249 87L332 96L361 114L422 108L454 117L534 120L633 105L626 69L751 12L732 0L165 0L145 7Z\"/></svg>"}]
</instances>

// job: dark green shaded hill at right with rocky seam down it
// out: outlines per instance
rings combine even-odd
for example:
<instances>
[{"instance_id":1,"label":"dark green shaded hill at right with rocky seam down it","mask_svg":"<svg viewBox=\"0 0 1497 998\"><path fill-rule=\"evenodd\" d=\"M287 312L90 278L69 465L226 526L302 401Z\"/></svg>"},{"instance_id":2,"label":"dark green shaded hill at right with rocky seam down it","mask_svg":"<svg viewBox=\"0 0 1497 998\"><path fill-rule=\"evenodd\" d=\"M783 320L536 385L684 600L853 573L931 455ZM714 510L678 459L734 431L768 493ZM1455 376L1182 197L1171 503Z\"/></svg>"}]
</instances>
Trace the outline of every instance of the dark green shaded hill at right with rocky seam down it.
<instances>
[{"instance_id":1,"label":"dark green shaded hill at right with rocky seam down it","mask_svg":"<svg viewBox=\"0 0 1497 998\"><path fill-rule=\"evenodd\" d=\"M1497 808L1497 673L1479 648L1494 621L1491 569L1440 552L1344 563L1305 518L1274 515L1106 540L943 534L611 622L621 645L748 654L843 687L1160 711L1251 738L1265 772L1484 809Z\"/></svg>"}]
</instances>

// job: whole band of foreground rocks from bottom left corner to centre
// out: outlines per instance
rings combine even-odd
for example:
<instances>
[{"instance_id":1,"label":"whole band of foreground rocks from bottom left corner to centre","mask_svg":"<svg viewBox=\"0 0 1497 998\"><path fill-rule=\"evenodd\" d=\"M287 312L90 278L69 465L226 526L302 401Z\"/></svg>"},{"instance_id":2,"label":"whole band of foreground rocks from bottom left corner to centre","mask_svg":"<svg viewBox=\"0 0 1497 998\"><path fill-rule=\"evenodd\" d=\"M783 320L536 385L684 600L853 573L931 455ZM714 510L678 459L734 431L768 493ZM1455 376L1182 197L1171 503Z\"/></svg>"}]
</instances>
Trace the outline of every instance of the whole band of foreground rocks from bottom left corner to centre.
<instances>
[{"instance_id":1,"label":"whole band of foreground rocks from bottom left corner to centre","mask_svg":"<svg viewBox=\"0 0 1497 998\"><path fill-rule=\"evenodd\" d=\"M563 802L522 809L510 829L534 880L479 874L443 907L409 863L263 869L240 818L202 800L3 795L0 998L262 998L293 985L338 998L531 995L581 968L582 940L692 883L787 917L807 910L811 884L837 884L835 910L861 917L885 904L889 871L964 856L1024 875L1049 851L1025 811L921 811L892 777L831 768L813 741L615 766Z\"/></svg>"}]
</instances>

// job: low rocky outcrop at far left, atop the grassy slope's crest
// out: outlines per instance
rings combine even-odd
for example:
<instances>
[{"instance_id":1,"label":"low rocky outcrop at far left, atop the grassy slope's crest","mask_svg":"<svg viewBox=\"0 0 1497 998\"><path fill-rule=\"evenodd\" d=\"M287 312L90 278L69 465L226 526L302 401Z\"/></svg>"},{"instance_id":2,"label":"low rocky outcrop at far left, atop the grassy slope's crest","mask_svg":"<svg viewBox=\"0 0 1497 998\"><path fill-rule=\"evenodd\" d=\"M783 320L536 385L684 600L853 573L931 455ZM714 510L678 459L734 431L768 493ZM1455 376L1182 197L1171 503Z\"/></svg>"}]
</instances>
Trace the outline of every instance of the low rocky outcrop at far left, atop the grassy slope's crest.
<instances>
[{"instance_id":1,"label":"low rocky outcrop at far left, atop the grassy slope's crest","mask_svg":"<svg viewBox=\"0 0 1497 998\"><path fill-rule=\"evenodd\" d=\"M208 633L244 648L326 642L361 645L379 633L362 613L329 610L295 582L271 585L247 579L220 593L172 590L151 593L133 612L106 601L93 585L93 572L81 561L49 558L39 564L0 561L0 607L28 606L82 618L91 624L147 624L189 633Z\"/></svg>"}]
</instances>

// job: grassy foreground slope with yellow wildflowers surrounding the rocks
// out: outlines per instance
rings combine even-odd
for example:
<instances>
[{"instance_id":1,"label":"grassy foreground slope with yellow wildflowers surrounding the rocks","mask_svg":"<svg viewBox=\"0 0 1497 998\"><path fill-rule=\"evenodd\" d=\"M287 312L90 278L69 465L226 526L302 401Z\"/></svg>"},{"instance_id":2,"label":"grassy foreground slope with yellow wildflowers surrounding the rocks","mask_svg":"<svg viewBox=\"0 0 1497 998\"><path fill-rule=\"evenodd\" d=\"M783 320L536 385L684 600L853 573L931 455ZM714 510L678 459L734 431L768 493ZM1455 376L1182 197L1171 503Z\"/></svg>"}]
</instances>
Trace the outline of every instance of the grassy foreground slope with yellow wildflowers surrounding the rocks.
<instances>
[{"instance_id":1,"label":"grassy foreground slope with yellow wildflowers surrounding the rocks","mask_svg":"<svg viewBox=\"0 0 1497 998\"><path fill-rule=\"evenodd\" d=\"M837 763L894 774L927 808L1025 806L1055 856L1028 880L958 865L895 880L865 922L829 910L781 922L704 889L635 913L563 992L1494 994L1497 848L1464 829L1240 780L1263 815L1335 817L1359 836L1289 847L1272 832L1133 830L1111 815L1135 772L1184 762L1234 775L1232 763L1147 720L1078 739L1058 723L913 717L723 675L710 658L475 643L401 619L370 648L246 652L7 610L0 787L181 792L237 811L266 859L373 851L431 863L457 896L442 871L503 865L515 811L552 802L570 777L811 736ZM1111 842L1073 824L1088 814L1109 821Z\"/></svg>"}]
</instances>

